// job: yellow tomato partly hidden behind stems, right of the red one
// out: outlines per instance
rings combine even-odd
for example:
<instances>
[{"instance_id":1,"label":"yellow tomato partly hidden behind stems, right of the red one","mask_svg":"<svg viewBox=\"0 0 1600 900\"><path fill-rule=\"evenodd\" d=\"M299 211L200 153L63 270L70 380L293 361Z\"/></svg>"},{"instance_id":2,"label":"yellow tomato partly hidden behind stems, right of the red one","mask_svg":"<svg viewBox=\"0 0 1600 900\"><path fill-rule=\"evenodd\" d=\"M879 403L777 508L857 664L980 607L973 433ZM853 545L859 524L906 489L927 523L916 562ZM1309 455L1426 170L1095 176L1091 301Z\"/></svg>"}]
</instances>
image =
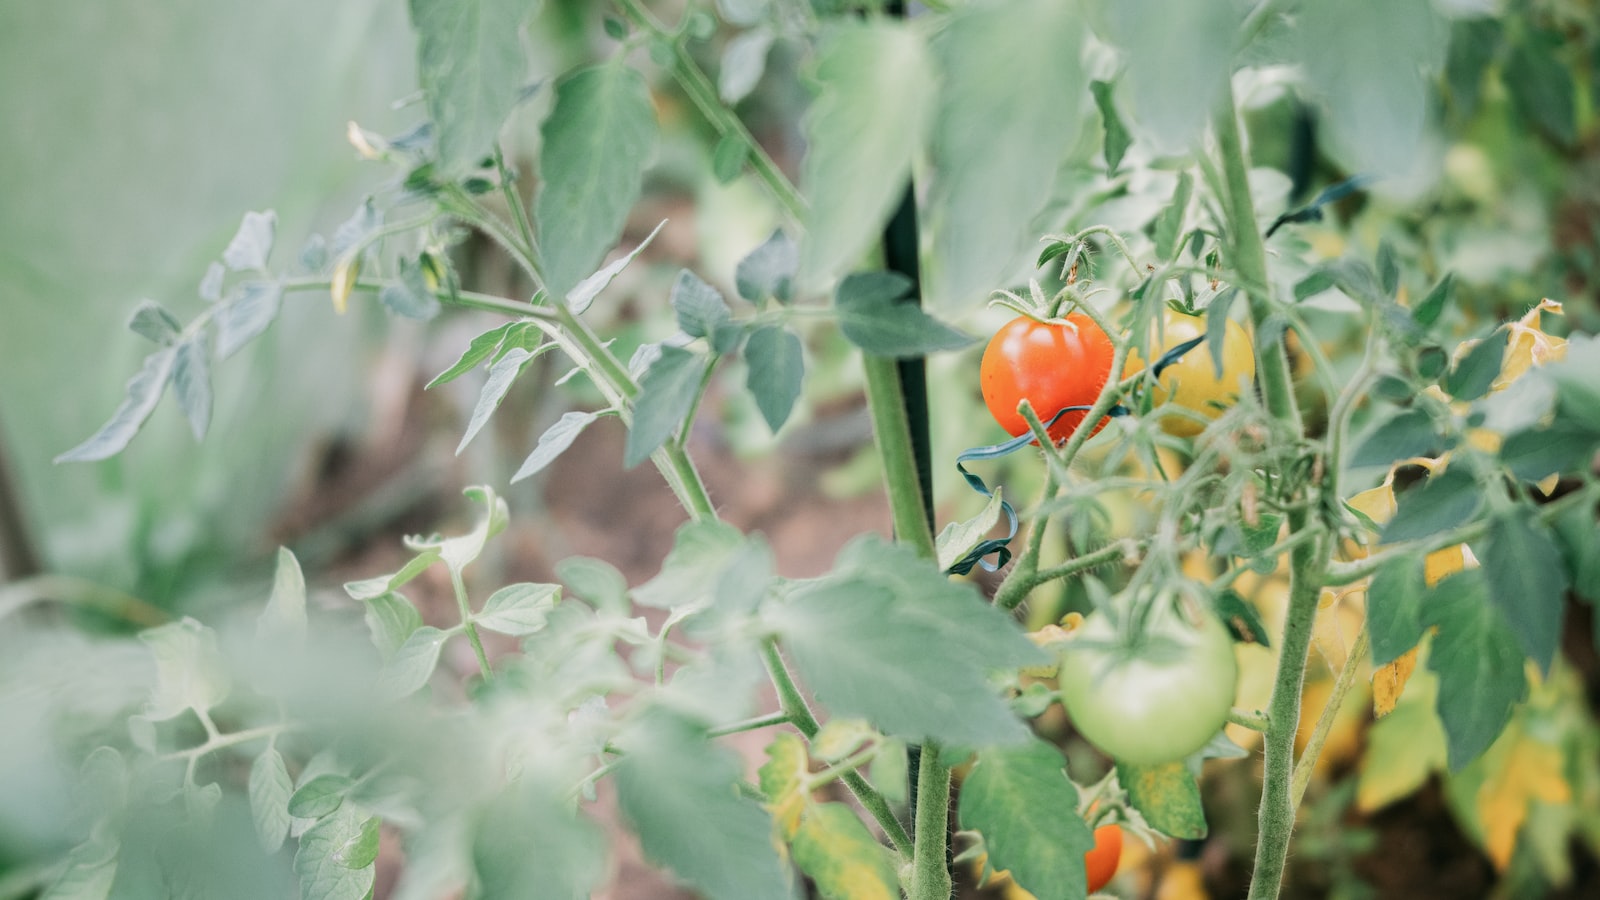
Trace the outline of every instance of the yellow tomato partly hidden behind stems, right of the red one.
<instances>
[{"instance_id":1,"label":"yellow tomato partly hidden behind stems, right of the red one","mask_svg":"<svg viewBox=\"0 0 1600 900\"><path fill-rule=\"evenodd\" d=\"M1206 322L1198 315L1189 315L1176 309L1168 309L1160 325L1150 327L1150 356L1160 359L1168 349L1203 338ZM1250 344L1245 328L1227 320L1222 331L1222 362L1216 364L1211 356L1211 343L1202 340L1200 346L1186 352L1181 359L1162 370L1154 389L1157 405L1173 404L1197 416L1214 420L1238 400L1240 391L1248 391L1256 378L1256 351ZM1146 362L1138 349L1128 352L1128 364L1123 367L1123 378L1144 372ZM1219 372L1221 368L1221 372ZM1205 431L1205 424L1189 415L1168 412L1160 418L1162 431L1178 437L1194 437Z\"/></svg>"}]
</instances>

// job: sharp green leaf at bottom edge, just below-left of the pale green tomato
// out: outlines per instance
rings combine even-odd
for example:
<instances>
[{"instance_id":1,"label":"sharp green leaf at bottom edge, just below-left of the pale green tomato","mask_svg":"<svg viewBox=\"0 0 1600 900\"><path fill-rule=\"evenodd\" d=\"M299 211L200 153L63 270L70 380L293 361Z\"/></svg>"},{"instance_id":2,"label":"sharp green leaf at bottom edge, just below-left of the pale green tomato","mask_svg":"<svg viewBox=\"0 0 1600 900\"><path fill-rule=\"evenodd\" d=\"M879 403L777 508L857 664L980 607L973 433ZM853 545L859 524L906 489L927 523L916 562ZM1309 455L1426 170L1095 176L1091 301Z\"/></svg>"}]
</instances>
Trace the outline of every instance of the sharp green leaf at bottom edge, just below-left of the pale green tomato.
<instances>
[{"instance_id":1,"label":"sharp green leaf at bottom edge, just below-left of the pale green tomato","mask_svg":"<svg viewBox=\"0 0 1600 900\"><path fill-rule=\"evenodd\" d=\"M1066 759L1038 738L981 751L962 781L962 828L981 833L989 865L1038 900L1083 897L1083 854L1094 834L1077 810Z\"/></svg>"}]
</instances>

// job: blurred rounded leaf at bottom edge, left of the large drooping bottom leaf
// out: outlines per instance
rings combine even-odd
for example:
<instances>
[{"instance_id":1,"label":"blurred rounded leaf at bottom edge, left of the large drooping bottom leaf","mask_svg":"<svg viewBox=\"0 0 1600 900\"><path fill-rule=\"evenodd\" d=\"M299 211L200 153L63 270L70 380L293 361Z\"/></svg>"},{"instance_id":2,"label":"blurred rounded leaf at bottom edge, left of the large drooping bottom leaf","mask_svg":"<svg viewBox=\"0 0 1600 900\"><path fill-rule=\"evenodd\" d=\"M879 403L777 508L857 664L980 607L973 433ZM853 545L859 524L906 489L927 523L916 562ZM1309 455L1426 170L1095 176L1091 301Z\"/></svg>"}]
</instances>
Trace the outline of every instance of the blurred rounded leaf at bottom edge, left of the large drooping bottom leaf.
<instances>
[{"instance_id":1,"label":"blurred rounded leaf at bottom edge, left of the large drooping bottom leaf","mask_svg":"<svg viewBox=\"0 0 1600 900\"><path fill-rule=\"evenodd\" d=\"M606 876L600 828L526 777L498 791L472 831L480 897L582 900Z\"/></svg>"}]
</instances>

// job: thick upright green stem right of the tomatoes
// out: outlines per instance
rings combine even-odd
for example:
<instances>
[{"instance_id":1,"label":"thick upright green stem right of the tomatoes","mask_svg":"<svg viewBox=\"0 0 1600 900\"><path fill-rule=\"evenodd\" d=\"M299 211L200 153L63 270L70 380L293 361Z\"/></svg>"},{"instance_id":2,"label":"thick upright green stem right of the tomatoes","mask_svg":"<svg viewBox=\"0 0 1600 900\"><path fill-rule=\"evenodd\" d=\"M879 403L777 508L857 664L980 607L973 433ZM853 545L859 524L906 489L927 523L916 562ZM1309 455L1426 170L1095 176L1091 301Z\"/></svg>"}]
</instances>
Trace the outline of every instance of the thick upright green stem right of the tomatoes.
<instances>
[{"instance_id":1,"label":"thick upright green stem right of the tomatoes","mask_svg":"<svg viewBox=\"0 0 1600 900\"><path fill-rule=\"evenodd\" d=\"M1250 165L1245 160L1238 114L1230 91L1224 94L1218 110L1216 141L1227 189L1226 207L1230 219L1227 231L1235 267L1250 283L1270 285L1266 247L1256 224L1256 205L1250 195ZM1251 319L1256 333L1261 335L1272 315L1272 296L1261 290L1250 290L1248 296ZM1296 440L1301 439L1304 424L1294 402L1294 383L1282 341L1256 343L1256 373L1267 410L1283 431ZM1328 466L1338 466L1338 460L1331 460ZM1312 485L1312 490L1317 487ZM1310 514L1304 506L1290 511L1291 535L1310 524ZM1312 623L1317 618L1317 597L1322 593L1330 544L1326 540L1309 540L1290 552L1288 612L1283 618L1283 637L1278 642L1278 671L1267 705L1269 725L1262 741L1266 761L1250 900L1275 898L1283 886L1290 836L1294 833L1294 732L1299 725L1306 660L1310 653Z\"/></svg>"}]
</instances>

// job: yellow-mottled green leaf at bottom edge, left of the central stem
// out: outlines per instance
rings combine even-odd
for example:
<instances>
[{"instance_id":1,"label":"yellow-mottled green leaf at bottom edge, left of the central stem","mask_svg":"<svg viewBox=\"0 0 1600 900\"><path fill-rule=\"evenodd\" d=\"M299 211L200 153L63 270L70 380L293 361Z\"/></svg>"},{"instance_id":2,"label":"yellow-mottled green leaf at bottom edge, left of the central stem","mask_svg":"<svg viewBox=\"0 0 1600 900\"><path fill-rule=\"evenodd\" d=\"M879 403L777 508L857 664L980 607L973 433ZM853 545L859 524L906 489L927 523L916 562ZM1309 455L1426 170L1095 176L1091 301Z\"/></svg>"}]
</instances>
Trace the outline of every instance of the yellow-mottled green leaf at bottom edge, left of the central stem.
<instances>
[{"instance_id":1,"label":"yellow-mottled green leaf at bottom edge, left of the central stem","mask_svg":"<svg viewBox=\"0 0 1600 900\"><path fill-rule=\"evenodd\" d=\"M826 900L899 900L893 854L845 804L818 804L805 812L794 857Z\"/></svg>"}]
</instances>

